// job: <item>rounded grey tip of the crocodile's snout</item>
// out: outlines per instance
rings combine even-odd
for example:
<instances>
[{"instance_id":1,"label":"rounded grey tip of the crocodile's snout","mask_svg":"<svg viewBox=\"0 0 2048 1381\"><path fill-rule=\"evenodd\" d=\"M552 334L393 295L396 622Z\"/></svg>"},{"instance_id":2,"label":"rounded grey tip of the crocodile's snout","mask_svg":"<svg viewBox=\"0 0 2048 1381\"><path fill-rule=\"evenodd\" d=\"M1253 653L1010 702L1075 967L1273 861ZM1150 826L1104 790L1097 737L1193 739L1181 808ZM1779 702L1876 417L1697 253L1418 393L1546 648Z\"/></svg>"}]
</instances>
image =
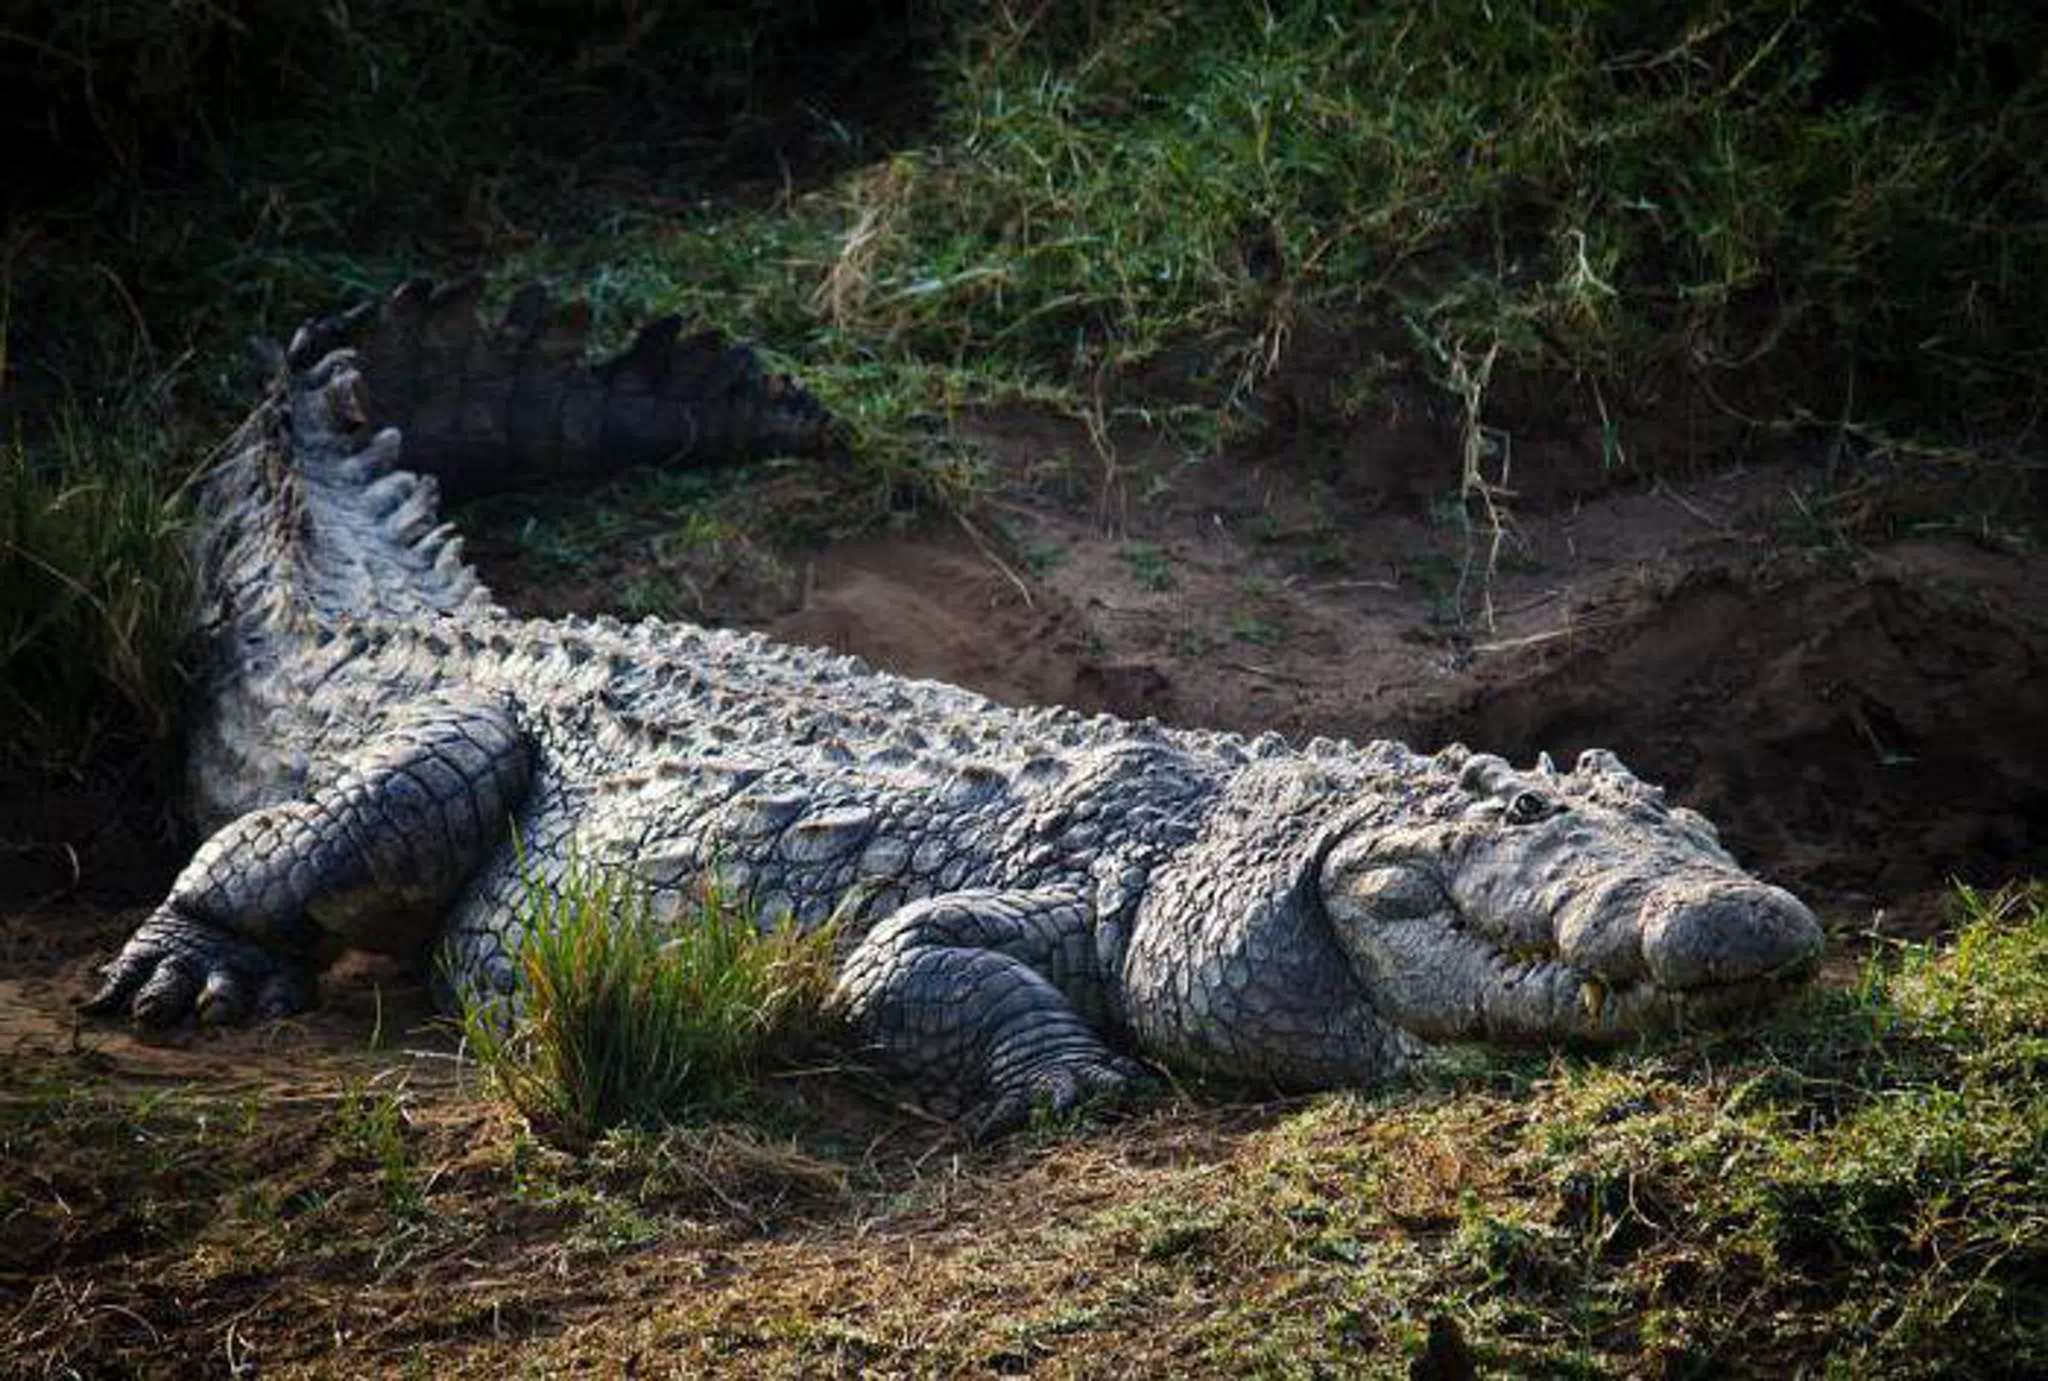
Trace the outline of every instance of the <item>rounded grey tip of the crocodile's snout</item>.
<instances>
[{"instance_id":1,"label":"rounded grey tip of the crocodile's snout","mask_svg":"<svg viewBox=\"0 0 2048 1381\"><path fill-rule=\"evenodd\" d=\"M1792 975L1821 955L1821 922L1782 887L1673 877L1642 899L1642 961L1665 990Z\"/></svg>"}]
</instances>

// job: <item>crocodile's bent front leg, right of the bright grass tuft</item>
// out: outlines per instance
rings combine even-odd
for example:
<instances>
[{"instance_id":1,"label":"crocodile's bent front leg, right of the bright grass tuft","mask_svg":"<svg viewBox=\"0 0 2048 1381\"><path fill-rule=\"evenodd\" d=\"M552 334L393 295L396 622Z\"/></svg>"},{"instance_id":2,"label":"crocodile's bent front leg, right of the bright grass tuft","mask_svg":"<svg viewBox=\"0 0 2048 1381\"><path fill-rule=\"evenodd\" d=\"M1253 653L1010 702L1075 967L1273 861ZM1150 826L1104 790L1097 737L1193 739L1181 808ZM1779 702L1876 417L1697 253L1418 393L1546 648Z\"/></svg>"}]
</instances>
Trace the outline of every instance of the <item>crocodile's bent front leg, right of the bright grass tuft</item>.
<instances>
[{"instance_id":1,"label":"crocodile's bent front leg, right of the bright grass tuft","mask_svg":"<svg viewBox=\"0 0 2048 1381\"><path fill-rule=\"evenodd\" d=\"M1079 889L954 891L870 930L834 1002L891 1076L979 1141L1149 1080L1081 1016L1102 1020L1108 990Z\"/></svg>"}]
</instances>

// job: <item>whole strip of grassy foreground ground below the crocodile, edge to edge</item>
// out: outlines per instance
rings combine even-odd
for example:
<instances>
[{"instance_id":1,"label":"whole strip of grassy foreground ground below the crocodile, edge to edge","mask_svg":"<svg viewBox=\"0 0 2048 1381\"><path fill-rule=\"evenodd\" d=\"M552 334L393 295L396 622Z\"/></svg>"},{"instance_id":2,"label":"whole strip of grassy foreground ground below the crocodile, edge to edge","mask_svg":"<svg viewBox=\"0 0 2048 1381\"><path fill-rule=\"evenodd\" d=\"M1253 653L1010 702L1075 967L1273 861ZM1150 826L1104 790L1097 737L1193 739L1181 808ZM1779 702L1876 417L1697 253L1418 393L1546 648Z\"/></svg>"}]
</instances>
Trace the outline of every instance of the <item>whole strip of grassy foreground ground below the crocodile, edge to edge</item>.
<instances>
[{"instance_id":1,"label":"whole strip of grassy foreground ground below the crocodile, edge to edge","mask_svg":"<svg viewBox=\"0 0 2048 1381\"><path fill-rule=\"evenodd\" d=\"M270 1041L8 1068L10 1358L1403 1375L1444 1317L1481 1375L2048 1367L2040 889L1739 1035L979 1154L813 1072L571 1158L432 1055Z\"/></svg>"}]
</instances>

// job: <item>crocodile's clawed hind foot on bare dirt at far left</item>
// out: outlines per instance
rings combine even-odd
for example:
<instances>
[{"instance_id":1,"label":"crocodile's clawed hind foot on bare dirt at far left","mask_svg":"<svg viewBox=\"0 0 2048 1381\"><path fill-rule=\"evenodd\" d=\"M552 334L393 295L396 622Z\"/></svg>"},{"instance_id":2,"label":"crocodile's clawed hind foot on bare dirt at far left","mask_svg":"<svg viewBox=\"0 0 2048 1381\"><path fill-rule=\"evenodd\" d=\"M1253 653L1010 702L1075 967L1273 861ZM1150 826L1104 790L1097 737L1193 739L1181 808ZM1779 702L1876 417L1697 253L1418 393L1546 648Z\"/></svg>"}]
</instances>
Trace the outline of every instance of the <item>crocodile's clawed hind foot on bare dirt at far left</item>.
<instances>
[{"instance_id":1,"label":"crocodile's clawed hind foot on bare dirt at far left","mask_svg":"<svg viewBox=\"0 0 2048 1381\"><path fill-rule=\"evenodd\" d=\"M303 961L170 910L145 920L100 969L100 979L78 1010L131 1016L143 1027L172 1027L188 1016L231 1027L313 1004L313 973Z\"/></svg>"}]
</instances>

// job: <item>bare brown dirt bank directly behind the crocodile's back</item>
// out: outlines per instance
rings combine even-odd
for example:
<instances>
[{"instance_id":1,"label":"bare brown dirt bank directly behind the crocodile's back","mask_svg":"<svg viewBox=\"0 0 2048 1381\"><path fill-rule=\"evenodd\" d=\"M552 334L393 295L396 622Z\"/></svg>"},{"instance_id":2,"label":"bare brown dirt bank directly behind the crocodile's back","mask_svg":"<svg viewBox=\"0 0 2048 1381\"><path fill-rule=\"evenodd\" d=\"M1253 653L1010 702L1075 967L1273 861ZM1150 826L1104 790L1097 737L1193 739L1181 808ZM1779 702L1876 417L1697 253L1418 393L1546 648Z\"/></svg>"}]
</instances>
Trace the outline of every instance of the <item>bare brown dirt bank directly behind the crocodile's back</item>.
<instances>
[{"instance_id":1,"label":"bare brown dirt bank directly behind the crocodile's back","mask_svg":"<svg viewBox=\"0 0 2048 1381\"><path fill-rule=\"evenodd\" d=\"M1444 447L1380 434L1196 461L1030 412L977 418L997 490L805 549L682 561L678 613L1008 703L1530 760L1606 746L1837 928L1925 932L1950 879L2048 871L2048 563L1964 535L1843 541L1798 465L1446 502ZM1360 445L1352 447L1360 451ZM1370 461L1370 463L1368 463ZM530 613L614 606L659 539L571 578L477 545Z\"/></svg>"}]
</instances>

